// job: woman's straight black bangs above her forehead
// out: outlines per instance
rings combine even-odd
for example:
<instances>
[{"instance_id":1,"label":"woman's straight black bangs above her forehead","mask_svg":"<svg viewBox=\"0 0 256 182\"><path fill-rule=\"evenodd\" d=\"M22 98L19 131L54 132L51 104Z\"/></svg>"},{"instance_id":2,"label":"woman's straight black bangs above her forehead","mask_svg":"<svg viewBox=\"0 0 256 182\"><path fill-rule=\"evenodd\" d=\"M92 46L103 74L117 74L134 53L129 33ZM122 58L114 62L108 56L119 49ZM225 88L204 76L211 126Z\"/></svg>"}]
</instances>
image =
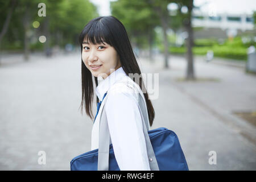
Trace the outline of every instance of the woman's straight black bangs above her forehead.
<instances>
[{"instance_id":1,"label":"woman's straight black bangs above her forehead","mask_svg":"<svg viewBox=\"0 0 256 182\"><path fill-rule=\"evenodd\" d=\"M108 27L104 26L101 21L93 22L85 26L84 30L81 32L79 37L79 42L82 43L91 43L91 44L105 44L108 43L112 46L110 39L108 38L109 32ZM105 42L105 43L104 43Z\"/></svg>"}]
</instances>

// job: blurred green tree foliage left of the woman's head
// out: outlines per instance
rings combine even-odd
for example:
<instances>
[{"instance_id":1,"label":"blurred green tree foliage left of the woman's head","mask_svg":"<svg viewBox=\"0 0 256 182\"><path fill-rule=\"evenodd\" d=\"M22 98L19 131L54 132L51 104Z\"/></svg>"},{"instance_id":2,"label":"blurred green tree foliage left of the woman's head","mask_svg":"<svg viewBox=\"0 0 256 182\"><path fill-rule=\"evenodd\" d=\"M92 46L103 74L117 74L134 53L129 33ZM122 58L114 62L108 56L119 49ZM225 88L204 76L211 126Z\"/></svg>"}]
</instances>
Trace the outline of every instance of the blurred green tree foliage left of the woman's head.
<instances>
[{"instance_id":1,"label":"blurred green tree foliage left of the woman's head","mask_svg":"<svg viewBox=\"0 0 256 182\"><path fill-rule=\"evenodd\" d=\"M0 24L5 22L9 11L8 1L0 2ZM48 35L49 45L58 44L65 46L67 43L78 44L78 36L89 20L98 16L96 6L89 0L19 0L11 17L8 31L3 37L1 49L23 49L24 42L24 19L26 13L29 22L29 39L38 39L40 35ZM38 16L38 4L46 4L46 17ZM38 28L32 27L37 20L40 23ZM47 34L48 32L48 34ZM17 44L18 42L18 44ZM19 46L15 46L16 45ZM30 43L32 49L42 49L43 43Z\"/></svg>"}]
</instances>

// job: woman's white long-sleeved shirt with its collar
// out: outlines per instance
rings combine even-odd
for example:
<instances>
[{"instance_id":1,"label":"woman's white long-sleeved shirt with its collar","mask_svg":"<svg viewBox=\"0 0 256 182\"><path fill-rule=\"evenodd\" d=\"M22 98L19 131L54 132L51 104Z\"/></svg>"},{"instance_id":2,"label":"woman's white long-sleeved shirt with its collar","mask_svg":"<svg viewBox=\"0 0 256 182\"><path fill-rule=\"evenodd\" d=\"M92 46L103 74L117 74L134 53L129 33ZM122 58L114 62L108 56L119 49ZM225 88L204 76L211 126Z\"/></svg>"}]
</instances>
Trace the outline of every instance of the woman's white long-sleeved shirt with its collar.
<instances>
[{"instance_id":1,"label":"woman's white long-sleeved shirt with its collar","mask_svg":"<svg viewBox=\"0 0 256 182\"><path fill-rule=\"evenodd\" d=\"M107 91L117 88L114 85L115 82L123 79L133 81L121 67L102 80L96 88L99 100L102 101ZM134 81L133 83L136 84ZM121 171L150 171L138 98L130 91L126 88L122 92L108 92L105 110L111 138L110 143L113 144L115 159ZM98 115L100 115L100 111L101 109ZM98 148L98 115L92 128L91 150ZM149 123L148 126L150 126Z\"/></svg>"}]
</instances>

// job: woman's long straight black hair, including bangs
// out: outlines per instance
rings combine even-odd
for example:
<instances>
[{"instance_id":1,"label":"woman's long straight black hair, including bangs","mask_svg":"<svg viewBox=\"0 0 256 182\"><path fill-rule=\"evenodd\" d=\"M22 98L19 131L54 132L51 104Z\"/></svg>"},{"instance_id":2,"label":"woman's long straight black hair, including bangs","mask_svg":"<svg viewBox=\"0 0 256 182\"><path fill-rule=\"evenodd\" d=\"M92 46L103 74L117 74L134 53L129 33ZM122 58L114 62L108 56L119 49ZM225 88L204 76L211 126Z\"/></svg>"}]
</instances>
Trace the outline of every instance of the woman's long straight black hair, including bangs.
<instances>
[{"instance_id":1,"label":"woman's long straight black hair, including bangs","mask_svg":"<svg viewBox=\"0 0 256 182\"><path fill-rule=\"evenodd\" d=\"M141 70L134 56L133 49L131 48L130 40L128 38L127 32L123 24L114 16L100 16L90 20L88 24L82 30L79 36L79 43L81 46L82 53L82 42L84 39L89 40L90 43L100 44L103 42L108 43L110 46L114 47L117 51L119 60L121 62L123 71L129 76L129 73L138 73L141 75ZM92 114L92 101L94 95L93 89L93 78L92 73L86 68L83 61L81 61L81 82L82 82L82 101L81 101L81 113L83 110L83 105L85 106L86 114L93 119ZM141 77L142 78L142 77ZM134 80L134 79L133 79ZM97 77L94 77L96 86L98 86ZM148 118L150 121L150 126L152 126L153 120L155 118L154 107L151 101L148 99L147 91L144 92L145 87L143 79L139 81L139 87L143 90L144 98L147 104ZM97 97L98 102L98 97Z\"/></svg>"}]
</instances>

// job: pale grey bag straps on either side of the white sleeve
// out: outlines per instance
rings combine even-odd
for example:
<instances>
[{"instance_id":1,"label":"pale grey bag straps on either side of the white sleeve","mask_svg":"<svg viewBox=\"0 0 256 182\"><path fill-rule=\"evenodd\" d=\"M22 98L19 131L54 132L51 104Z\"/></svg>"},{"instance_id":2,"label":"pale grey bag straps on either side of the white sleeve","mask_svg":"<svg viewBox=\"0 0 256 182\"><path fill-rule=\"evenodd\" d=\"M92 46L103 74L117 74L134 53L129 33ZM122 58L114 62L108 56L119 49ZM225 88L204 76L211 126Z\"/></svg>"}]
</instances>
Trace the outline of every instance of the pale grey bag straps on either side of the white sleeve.
<instances>
[{"instance_id":1,"label":"pale grey bag straps on either side of the white sleeve","mask_svg":"<svg viewBox=\"0 0 256 182\"><path fill-rule=\"evenodd\" d=\"M154 149L148 136L148 115L146 110L146 101L144 101L142 92L139 92L139 112L142 117L143 133L146 140L147 156L150 164L151 171L159 171L158 163L155 158ZM108 99L106 94L105 102ZM143 103L144 102L144 103ZM147 119L147 122L145 120ZM147 123L147 125L146 125ZM102 105L102 112L100 114L100 128L99 128L99 144L98 144L98 171L109 170L109 145L110 145L110 133L108 127L108 119L106 117L105 104Z\"/></svg>"}]
</instances>

